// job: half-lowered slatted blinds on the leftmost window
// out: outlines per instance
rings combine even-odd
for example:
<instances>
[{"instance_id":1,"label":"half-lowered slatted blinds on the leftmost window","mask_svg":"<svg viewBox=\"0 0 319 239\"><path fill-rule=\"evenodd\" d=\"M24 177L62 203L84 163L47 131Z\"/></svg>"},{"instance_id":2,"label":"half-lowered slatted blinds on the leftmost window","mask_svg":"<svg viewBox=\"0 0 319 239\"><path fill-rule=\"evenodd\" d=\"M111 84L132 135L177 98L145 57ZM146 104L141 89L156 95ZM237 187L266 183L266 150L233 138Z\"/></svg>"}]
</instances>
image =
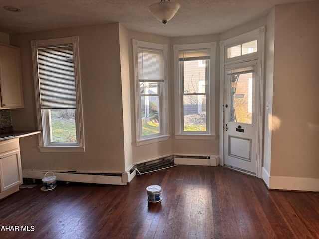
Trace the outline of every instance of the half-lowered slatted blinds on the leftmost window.
<instances>
[{"instance_id":1,"label":"half-lowered slatted blinds on the leftmost window","mask_svg":"<svg viewBox=\"0 0 319 239\"><path fill-rule=\"evenodd\" d=\"M76 109L72 44L37 53L41 109Z\"/></svg>"}]
</instances>

